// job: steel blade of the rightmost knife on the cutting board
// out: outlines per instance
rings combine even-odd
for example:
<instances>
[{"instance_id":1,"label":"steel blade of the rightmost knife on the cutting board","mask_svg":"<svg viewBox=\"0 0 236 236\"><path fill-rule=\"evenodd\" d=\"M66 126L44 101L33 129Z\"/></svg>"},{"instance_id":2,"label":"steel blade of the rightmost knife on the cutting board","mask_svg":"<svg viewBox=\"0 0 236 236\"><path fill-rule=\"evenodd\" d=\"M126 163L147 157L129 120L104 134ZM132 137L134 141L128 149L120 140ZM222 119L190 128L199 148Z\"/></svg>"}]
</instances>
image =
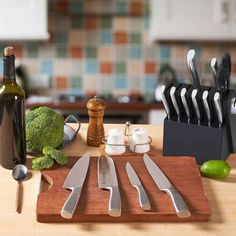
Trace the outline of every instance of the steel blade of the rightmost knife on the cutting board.
<instances>
[{"instance_id":1,"label":"steel blade of the rightmost knife on the cutting board","mask_svg":"<svg viewBox=\"0 0 236 236\"><path fill-rule=\"evenodd\" d=\"M143 156L144 163L148 169L148 172L152 176L154 182L160 190L165 190L170 188L172 185L167 179L162 170L157 166L157 164L145 153Z\"/></svg>"}]
</instances>

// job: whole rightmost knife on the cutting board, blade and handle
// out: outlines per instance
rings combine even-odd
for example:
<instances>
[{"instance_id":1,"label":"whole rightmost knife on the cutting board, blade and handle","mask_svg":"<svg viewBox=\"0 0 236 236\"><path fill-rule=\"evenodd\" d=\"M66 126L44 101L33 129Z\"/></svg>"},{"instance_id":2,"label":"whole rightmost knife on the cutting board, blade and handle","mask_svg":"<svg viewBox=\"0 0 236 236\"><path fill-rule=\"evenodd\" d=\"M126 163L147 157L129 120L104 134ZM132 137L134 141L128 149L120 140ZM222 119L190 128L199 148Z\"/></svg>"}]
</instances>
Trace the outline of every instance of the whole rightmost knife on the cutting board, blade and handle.
<instances>
[{"instance_id":1,"label":"whole rightmost knife on the cutting board, blade and handle","mask_svg":"<svg viewBox=\"0 0 236 236\"><path fill-rule=\"evenodd\" d=\"M184 202L180 194L177 192L177 190L174 188L174 186L170 183L170 181L162 172L162 170L146 153L143 156L143 160L149 174L153 178L157 187L161 191L168 193L168 195L170 196L177 216L180 218L189 217L190 211L186 203Z\"/></svg>"}]
</instances>

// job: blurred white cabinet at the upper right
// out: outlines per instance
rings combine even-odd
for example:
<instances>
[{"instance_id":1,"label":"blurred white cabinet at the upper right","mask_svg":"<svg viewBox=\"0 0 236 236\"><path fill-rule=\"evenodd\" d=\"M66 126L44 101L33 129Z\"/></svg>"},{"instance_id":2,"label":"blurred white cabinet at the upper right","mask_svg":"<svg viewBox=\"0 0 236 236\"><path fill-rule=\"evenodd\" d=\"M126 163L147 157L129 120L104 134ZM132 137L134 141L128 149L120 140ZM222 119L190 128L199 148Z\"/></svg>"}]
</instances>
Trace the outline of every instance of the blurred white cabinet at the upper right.
<instances>
[{"instance_id":1,"label":"blurred white cabinet at the upper right","mask_svg":"<svg viewBox=\"0 0 236 236\"><path fill-rule=\"evenodd\" d=\"M152 40L233 41L236 0L152 0Z\"/></svg>"}]
</instances>

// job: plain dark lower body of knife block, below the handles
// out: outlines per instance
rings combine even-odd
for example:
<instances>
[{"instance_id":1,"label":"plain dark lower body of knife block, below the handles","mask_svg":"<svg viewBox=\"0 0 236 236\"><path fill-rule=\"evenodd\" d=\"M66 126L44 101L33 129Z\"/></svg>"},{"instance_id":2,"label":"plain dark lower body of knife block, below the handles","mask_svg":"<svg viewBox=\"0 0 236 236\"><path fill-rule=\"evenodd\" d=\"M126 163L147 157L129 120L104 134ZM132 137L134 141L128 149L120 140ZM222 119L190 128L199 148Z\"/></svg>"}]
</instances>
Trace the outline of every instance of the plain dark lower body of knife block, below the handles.
<instances>
[{"instance_id":1,"label":"plain dark lower body of knife block, below the handles","mask_svg":"<svg viewBox=\"0 0 236 236\"><path fill-rule=\"evenodd\" d=\"M198 164L230 155L226 126L221 128L164 120L163 156L193 156Z\"/></svg>"}]
</instances>

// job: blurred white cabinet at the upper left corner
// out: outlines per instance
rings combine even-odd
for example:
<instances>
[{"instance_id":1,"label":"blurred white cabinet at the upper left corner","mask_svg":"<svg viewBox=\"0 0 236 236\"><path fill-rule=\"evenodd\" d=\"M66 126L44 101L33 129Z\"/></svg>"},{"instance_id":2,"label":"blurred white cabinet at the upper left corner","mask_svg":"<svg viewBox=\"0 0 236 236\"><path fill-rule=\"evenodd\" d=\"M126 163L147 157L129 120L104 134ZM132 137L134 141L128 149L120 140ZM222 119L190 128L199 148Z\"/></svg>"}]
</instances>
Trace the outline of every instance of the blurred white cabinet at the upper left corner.
<instances>
[{"instance_id":1,"label":"blurred white cabinet at the upper left corner","mask_svg":"<svg viewBox=\"0 0 236 236\"><path fill-rule=\"evenodd\" d=\"M0 0L0 40L48 39L47 0Z\"/></svg>"}]
</instances>

